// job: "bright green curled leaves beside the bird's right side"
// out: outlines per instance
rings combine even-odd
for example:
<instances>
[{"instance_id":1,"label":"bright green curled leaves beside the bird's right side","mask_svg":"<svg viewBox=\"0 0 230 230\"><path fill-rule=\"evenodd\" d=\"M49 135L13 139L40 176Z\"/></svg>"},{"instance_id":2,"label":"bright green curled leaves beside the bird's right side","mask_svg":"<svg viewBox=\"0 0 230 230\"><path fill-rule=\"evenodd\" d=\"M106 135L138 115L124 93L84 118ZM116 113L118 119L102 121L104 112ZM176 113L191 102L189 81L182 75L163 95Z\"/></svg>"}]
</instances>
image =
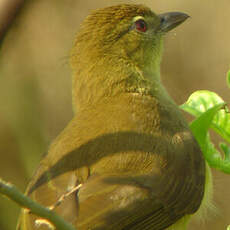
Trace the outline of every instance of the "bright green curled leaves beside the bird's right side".
<instances>
[{"instance_id":1,"label":"bright green curled leaves beside the bird's right side","mask_svg":"<svg viewBox=\"0 0 230 230\"><path fill-rule=\"evenodd\" d=\"M230 71L227 81L230 82ZM225 142L219 143L222 157L209 136L209 129L212 128L230 143L230 113L226 103L216 93L200 90L194 92L181 108L196 117L190 128L209 165L230 174L230 146Z\"/></svg>"}]
</instances>

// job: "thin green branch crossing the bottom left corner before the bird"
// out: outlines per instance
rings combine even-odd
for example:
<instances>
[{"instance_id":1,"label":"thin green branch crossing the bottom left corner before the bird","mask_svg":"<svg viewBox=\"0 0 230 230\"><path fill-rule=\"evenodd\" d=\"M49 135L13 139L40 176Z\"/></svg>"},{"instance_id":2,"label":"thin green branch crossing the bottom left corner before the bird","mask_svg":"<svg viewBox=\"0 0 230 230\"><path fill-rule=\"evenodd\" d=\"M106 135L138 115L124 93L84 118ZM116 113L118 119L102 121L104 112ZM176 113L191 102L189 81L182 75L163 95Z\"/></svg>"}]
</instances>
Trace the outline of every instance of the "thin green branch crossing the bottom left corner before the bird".
<instances>
[{"instance_id":1,"label":"thin green branch crossing the bottom left corner before the bird","mask_svg":"<svg viewBox=\"0 0 230 230\"><path fill-rule=\"evenodd\" d=\"M41 206L29 197L21 193L14 185L3 181L0 178L0 193L15 201L20 206L27 208L31 213L36 214L61 230L76 230L72 224L66 222L62 217L58 216L52 210Z\"/></svg>"}]
</instances>

